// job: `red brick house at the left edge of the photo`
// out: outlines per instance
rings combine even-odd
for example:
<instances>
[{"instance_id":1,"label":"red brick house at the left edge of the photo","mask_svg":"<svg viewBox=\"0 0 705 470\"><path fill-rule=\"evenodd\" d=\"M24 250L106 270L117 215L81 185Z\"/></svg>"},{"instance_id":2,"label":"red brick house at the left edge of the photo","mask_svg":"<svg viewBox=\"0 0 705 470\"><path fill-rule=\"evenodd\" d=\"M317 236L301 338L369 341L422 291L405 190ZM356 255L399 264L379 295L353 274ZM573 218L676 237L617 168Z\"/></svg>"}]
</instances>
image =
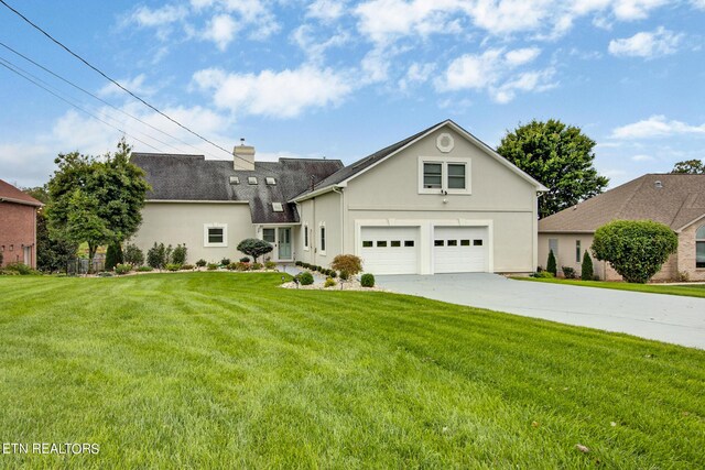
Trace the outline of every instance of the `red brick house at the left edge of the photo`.
<instances>
[{"instance_id":1,"label":"red brick house at the left edge of the photo","mask_svg":"<svg viewBox=\"0 0 705 470\"><path fill-rule=\"evenodd\" d=\"M0 179L0 252L2 265L36 267L36 211L42 203Z\"/></svg>"}]
</instances>

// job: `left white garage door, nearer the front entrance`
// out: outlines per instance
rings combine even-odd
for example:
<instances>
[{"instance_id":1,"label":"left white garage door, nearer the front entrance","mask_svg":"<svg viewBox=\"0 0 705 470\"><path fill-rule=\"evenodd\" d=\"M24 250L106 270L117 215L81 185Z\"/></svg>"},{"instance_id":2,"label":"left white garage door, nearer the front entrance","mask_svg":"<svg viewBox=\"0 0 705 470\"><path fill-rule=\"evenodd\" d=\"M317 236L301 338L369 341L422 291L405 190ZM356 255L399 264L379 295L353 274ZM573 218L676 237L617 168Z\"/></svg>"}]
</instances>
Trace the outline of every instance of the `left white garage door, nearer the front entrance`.
<instances>
[{"instance_id":1,"label":"left white garage door, nearer the front entrance","mask_svg":"<svg viewBox=\"0 0 705 470\"><path fill-rule=\"evenodd\" d=\"M365 272L419 272L419 227L362 227L360 244Z\"/></svg>"}]
</instances>

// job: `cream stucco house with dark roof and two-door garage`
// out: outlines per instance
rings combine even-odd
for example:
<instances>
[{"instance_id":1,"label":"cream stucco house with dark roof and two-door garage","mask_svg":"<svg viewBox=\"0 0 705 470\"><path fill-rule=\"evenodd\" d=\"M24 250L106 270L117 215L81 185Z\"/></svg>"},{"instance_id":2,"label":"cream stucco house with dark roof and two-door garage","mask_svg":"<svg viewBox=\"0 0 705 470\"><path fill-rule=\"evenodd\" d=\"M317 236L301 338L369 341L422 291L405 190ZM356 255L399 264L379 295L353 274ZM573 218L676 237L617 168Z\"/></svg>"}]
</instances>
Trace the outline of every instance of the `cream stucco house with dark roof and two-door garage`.
<instances>
[{"instance_id":1,"label":"cream stucco house with dark roof and two-door garage","mask_svg":"<svg viewBox=\"0 0 705 470\"><path fill-rule=\"evenodd\" d=\"M152 185L133 242L186 243L188 260L238 259L260 238L271 259L327 266L362 258L375 274L527 273L538 264L541 183L451 120L351 165L134 153Z\"/></svg>"}]
</instances>

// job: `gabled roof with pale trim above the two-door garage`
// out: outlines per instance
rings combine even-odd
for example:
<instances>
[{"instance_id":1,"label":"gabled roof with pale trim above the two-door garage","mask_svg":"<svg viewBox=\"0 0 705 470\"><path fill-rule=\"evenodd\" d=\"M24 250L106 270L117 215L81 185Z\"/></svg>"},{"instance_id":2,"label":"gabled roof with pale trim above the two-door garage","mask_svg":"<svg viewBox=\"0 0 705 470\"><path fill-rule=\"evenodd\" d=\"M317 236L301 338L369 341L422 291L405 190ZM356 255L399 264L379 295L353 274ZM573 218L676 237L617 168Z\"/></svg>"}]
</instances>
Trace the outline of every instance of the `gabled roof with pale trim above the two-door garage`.
<instances>
[{"instance_id":1,"label":"gabled roof with pale trim above the two-door garage","mask_svg":"<svg viewBox=\"0 0 705 470\"><path fill-rule=\"evenodd\" d=\"M382 149L380 151L377 151L377 152L372 153L371 155L366 156L365 159L358 160L357 162L352 163L351 165L348 165L348 166L345 166L345 167L340 168L339 171L337 171L333 175L328 176L327 178L321 181L319 183L316 183L314 188L308 188L308 189L304 190L302 194L297 195L294 198L294 200L305 199L305 198L307 198L310 196L313 196L315 194L319 194L319 193L325 193L327 190L332 190L333 187L335 187L335 186L345 185L345 183L347 181L349 181L349 179L354 178L355 176L364 173L368 168L370 168L370 167L375 166L376 164L387 160L388 157L394 155L397 152L399 152L399 151L405 149L406 146L413 144L414 142L423 139L427 134L430 134L432 132L435 132L437 129L440 129L440 128L442 128L444 125L451 127L456 132L458 132L459 134L464 135L469 141L474 142L477 146L479 146L481 150L484 150L487 154L489 154L490 156L492 156L494 159L499 161L501 164L503 164L505 166L510 168L512 172L517 173L519 176L521 176L527 182L529 182L532 185L536 186L538 190L542 190L542 192L549 190L545 186L543 186L541 183L535 181L529 174L524 173L519 167L517 167L514 164L509 162L507 159L505 159L503 156L498 154L495 150L492 150L485 142L480 141L475 135L470 134L468 131L466 131L465 129L463 129L462 127L456 124L451 119L446 119L445 121L438 122L437 124L434 124L434 125L432 125L432 127L430 127L427 129L424 129L423 131L421 131L419 133L415 133L415 134L411 135L410 138L401 140L401 141L399 141L399 142L397 142L397 143L394 143L392 145L389 145L389 146L387 146L387 147L384 147L384 149Z\"/></svg>"}]
</instances>

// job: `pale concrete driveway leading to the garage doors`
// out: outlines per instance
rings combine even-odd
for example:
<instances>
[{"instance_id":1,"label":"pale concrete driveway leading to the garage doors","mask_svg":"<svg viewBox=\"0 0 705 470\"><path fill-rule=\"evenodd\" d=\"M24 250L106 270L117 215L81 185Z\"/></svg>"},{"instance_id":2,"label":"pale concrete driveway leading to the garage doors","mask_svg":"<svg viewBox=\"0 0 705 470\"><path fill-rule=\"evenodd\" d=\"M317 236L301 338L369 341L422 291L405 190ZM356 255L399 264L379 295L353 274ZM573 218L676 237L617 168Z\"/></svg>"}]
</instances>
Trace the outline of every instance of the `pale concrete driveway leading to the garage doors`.
<instances>
[{"instance_id":1,"label":"pale concrete driveway leading to the garage doors","mask_svg":"<svg viewBox=\"0 0 705 470\"><path fill-rule=\"evenodd\" d=\"M377 284L401 294L705 349L705 298L513 281L485 273L377 276Z\"/></svg>"}]
</instances>

